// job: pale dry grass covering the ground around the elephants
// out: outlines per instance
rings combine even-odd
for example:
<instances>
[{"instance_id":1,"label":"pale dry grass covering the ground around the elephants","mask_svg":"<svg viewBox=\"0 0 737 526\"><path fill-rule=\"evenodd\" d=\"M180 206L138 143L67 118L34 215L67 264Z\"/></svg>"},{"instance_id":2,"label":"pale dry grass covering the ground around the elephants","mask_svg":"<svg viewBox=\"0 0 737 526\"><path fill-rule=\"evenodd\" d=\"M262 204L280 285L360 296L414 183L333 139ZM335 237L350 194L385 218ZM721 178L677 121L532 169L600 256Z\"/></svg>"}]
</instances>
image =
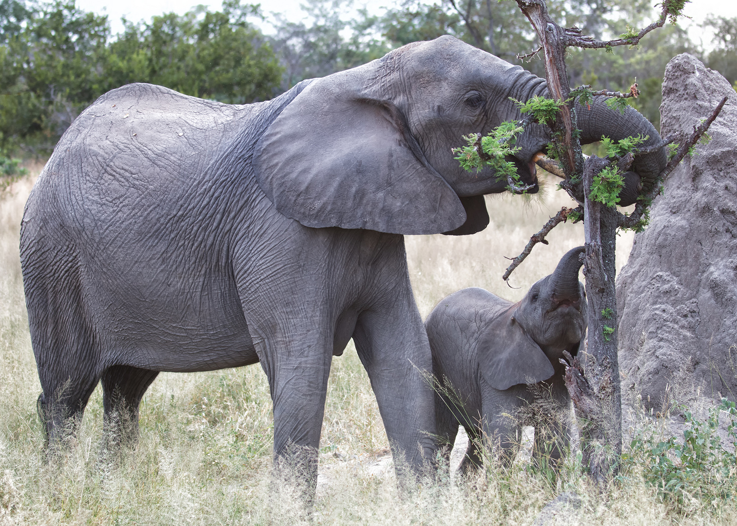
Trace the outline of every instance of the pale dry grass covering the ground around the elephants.
<instances>
[{"instance_id":1,"label":"pale dry grass covering the ground around the elephants","mask_svg":"<svg viewBox=\"0 0 737 526\"><path fill-rule=\"evenodd\" d=\"M38 166L35 167L38 172ZM46 461L35 400L35 371L21 272L18 224L31 183L0 201L0 525L293 524L304 522L288 488L270 484L272 418L265 375L253 366L161 374L141 407L141 438L118 466L99 461L102 396L92 396L69 452ZM408 238L411 276L423 315L444 295L481 286L517 299L579 245L580 225L553 231L506 287L502 256L516 255L564 199L520 205L490 200L492 225L472 237ZM629 252L631 239L621 242ZM368 378L352 346L333 362L321 441L317 524L523 525L559 491L581 495L566 524L735 524L733 505L673 508L638 477L604 494L587 488L575 465L553 488L518 462L465 483L425 483L399 498L388 444ZM270 489L271 488L271 489ZM559 516L559 517L561 517ZM307 523L307 522L305 522Z\"/></svg>"}]
</instances>

